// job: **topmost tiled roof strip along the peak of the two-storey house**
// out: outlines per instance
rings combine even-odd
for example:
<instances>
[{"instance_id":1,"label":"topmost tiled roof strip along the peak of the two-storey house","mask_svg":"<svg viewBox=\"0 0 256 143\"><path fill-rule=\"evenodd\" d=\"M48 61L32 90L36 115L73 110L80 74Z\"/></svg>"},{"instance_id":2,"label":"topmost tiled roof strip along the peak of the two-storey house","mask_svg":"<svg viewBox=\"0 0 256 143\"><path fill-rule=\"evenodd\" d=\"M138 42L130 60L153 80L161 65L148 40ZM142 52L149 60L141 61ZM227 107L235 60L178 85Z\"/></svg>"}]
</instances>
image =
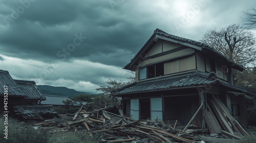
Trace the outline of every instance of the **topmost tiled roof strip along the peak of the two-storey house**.
<instances>
[{"instance_id":1,"label":"topmost tiled roof strip along the peak of the two-storey house","mask_svg":"<svg viewBox=\"0 0 256 143\"><path fill-rule=\"evenodd\" d=\"M171 35L171 34L168 34L162 30L159 30L158 28L154 31L153 35L150 37L150 39L147 40L147 42L144 44L144 46L139 50L139 52L134 56L134 58L131 60L131 62L129 64L127 64L124 69L129 69L129 66L131 66L132 62L134 60L136 60L137 56L139 56L140 54L142 54L143 50L146 48L146 46L148 45L148 43L150 43L150 41L152 41L152 38L155 36L155 35L159 35L159 36L164 36L164 37L167 37L167 38L170 38L170 39L174 39L174 40L177 40L177 41L181 41L181 43L183 42L186 42L186 43L189 43L189 44L192 44L192 45L195 45L195 46L199 46L199 47L202 47L202 48L207 48L209 49L210 51L213 51L215 54L218 54L219 56L221 56L222 58L226 59L227 61L230 61L230 63L234 63L233 61L231 60L228 60L227 56L223 55L222 53L220 53L219 51L215 50L214 48L210 47L209 45L207 44L204 44L204 43L201 43L201 42L198 42L198 41L194 41L194 40L190 40L190 39L186 39L186 38L182 38L182 37L178 37L178 36L175 36L175 35ZM238 68L240 69L243 69L243 66L241 65L238 65L238 64L234 64L234 66L237 66Z\"/></svg>"}]
</instances>

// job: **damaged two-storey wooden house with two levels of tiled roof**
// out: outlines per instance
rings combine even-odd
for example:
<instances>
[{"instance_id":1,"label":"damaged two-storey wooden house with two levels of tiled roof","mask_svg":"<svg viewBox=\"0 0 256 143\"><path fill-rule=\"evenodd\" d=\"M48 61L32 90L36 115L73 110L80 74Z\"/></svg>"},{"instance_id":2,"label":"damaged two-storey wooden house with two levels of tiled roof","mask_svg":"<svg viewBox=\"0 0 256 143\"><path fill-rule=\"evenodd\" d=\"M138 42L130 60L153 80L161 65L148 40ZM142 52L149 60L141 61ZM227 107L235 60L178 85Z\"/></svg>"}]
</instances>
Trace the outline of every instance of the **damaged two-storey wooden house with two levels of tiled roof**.
<instances>
[{"instance_id":1,"label":"damaged two-storey wooden house with two levels of tiled roof","mask_svg":"<svg viewBox=\"0 0 256 143\"><path fill-rule=\"evenodd\" d=\"M135 83L112 91L134 119L179 120L188 124L200 105L210 109L218 97L240 124L247 125L246 100L253 96L233 84L232 70L243 71L210 46L156 29L124 69L135 71ZM194 120L205 128L202 113Z\"/></svg>"}]
</instances>

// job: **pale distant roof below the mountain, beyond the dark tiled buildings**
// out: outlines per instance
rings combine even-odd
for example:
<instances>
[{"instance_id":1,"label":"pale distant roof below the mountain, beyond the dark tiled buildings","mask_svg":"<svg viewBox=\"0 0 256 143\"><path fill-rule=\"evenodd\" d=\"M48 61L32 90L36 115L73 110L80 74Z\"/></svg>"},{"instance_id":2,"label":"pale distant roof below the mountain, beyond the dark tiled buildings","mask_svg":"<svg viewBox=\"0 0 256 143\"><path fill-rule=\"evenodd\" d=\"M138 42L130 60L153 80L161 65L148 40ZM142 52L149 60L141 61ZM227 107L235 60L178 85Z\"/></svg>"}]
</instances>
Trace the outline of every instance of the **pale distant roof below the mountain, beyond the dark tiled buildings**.
<instances>
[{"instance_id":1,"label":"pale distant roof below the mountain, beyond the dark tiled buildings","mask_svg":"<svg viewBox=\"0 0 256 143\"><path fill-rule=\"evenodd\" d=\"M42 105L65 105L63 100L71 100L68 96L57 96L57 95L44 95L46 97L45 101L41 101ZM71 100L72 101L72 100Z\"/></svg>"}]
</instances>

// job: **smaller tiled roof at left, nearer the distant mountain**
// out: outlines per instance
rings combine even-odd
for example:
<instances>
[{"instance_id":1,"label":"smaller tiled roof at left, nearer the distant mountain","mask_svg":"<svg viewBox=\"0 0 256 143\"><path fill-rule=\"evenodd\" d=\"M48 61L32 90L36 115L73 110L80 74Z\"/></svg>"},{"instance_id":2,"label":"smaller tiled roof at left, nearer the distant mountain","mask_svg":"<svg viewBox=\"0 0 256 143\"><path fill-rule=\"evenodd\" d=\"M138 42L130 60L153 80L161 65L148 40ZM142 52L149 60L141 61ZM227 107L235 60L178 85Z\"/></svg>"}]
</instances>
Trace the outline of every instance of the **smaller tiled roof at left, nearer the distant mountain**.
<instances>
[{"instance_id":1,"label":"smaller tiled roof at left, nearer the distant mountain","mask_svg":"<svg viewBox=\"0 0 256 143\"><path fill-rule=\"evenodd\" d=\"M23 90L27 98L45 98L41 91L38 89L35 81L16 80L18 87Z\"/></svg>"}]
</instances>

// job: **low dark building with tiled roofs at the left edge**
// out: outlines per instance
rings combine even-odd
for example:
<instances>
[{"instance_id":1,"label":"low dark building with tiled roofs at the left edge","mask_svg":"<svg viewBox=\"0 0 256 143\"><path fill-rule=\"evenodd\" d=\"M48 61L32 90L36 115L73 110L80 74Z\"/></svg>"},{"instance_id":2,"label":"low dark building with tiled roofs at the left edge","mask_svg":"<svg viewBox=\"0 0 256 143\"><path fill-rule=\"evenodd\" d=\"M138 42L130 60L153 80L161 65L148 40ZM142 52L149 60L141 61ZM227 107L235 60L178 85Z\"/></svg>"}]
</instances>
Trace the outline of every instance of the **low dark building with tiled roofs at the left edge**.
<instances>
[{"instance_id":1,"label":"low dark building with tiled roofs at the left edge","mask_svg":"<svg viewBox=\"0 0 256 143\"><path fill-rule=\"evenodd\" d=\"M0 70L0 98L1 101L8 98L7 110L10 114L14 113L12 107L15 105L37 105L46 100L35 81L15 80L5 70ZM0 103L0 110L5 111L4 102Z\"/></svg>"}]
</instances>

